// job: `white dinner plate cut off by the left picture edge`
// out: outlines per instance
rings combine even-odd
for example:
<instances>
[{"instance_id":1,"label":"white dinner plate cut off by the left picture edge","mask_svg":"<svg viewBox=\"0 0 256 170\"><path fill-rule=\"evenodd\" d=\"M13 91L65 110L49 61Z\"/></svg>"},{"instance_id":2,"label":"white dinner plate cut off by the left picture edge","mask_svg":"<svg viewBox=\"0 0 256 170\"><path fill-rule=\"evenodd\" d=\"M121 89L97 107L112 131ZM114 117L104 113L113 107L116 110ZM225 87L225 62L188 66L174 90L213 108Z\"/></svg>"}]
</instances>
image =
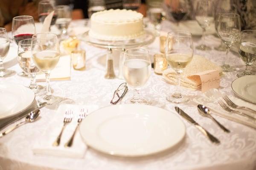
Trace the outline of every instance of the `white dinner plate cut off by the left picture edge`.
<instances>
[{"instance_id":1,"label":"white dinner plate cut off by the left picture edge","mask_svg":"<svg viewBox=\"0 0 256 170\"><path fill-rule=\"evenodd\" d=\"M25 111L35 99L31 89L14 84L0 84L0 96L0 119Z\"/></svg>"}]
</instances>

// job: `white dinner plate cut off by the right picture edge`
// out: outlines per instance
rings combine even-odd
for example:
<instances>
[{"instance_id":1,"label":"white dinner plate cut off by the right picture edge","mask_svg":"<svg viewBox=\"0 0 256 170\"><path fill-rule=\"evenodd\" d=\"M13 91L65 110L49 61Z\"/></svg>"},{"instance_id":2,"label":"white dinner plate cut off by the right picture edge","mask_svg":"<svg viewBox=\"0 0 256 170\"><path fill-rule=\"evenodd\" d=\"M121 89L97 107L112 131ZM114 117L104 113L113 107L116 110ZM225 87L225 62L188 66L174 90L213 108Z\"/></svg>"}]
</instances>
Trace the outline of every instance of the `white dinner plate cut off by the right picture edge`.
<instances>
[{"instance_id":1,"label":"white dinner plate cut off by the right picture edge","mask_svg":"<svg viewBox=\"0 0 256 170\"><path fill-rule=\"evenodd\" d=\"M256 75L235 79L231 87L239 97L256 104Z\"/></svg>"}]
</instances>

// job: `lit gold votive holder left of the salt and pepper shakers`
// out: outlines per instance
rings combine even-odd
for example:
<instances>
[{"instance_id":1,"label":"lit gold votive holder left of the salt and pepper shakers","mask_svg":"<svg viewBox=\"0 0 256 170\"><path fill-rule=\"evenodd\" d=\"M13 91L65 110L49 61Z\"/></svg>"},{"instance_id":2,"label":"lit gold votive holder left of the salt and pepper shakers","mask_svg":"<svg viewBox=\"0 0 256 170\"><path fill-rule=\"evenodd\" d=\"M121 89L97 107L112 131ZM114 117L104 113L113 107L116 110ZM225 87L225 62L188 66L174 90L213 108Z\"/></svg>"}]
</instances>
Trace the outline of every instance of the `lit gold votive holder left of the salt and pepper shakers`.
<instances>
[{"instance_id":1,"label":"lit gold votive holder left of the salt and pepper shakers","mask_svg":"<svg viewBox=\"0 0 256 170\"><path fill-rule=\"evenodd\" d=\"M75 70L85 70L85 51L75 50L71 52L72 65Z\"/></svg>"}]
</instances>

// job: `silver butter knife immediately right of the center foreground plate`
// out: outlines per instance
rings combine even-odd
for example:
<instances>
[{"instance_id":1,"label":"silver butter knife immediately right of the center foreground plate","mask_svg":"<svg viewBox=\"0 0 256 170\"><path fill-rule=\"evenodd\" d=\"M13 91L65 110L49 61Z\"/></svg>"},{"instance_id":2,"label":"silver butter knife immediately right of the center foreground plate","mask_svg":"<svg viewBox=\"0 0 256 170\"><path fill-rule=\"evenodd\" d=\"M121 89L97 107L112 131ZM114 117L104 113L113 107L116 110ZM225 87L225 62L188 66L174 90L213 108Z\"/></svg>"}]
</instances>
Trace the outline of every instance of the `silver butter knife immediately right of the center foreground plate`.
<instances>
[{"instance_id":1,"label":"silver butter knife immediately right of the center foreground plate","mask_svg":"<svg viewBox=\"0 0 256 170\"><path fill-rule=\"evenodd\" d=\"M195 122L194 119L192 119L187 113L185 113L183 110L181 110L179 107L175 106L175 111L180 114L184 119L186 119L188 122L192 123L197 127L202 133L204 133L205 136L207 136L211 142L219 144L220 141L213 136L211 133L209 133L207 130L205 130L203 127L201 127L197 122Z\"/></svg>"}]
</instances>

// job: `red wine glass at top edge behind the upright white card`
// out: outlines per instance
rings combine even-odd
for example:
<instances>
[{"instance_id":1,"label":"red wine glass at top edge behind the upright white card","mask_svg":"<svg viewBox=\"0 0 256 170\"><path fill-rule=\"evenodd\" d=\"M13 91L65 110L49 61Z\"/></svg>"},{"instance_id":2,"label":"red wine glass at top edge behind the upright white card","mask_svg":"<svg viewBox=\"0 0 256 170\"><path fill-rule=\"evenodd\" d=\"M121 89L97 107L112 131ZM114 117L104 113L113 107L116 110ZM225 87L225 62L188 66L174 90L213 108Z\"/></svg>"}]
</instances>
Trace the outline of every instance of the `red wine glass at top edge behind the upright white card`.
<instances>
[{"instance_id":1,"label":"red wine glass at top edge behind the upright white card","mask_svg":"<svg viewBox=\"0 0 256 170\"><path fill-rule=\"evenodd\" d=\"M55 10L55 0L41 0L38 3L38 20L41 23L44 23L44 19L49 15L52 11ZM57 13L54 12L52 16L51 26L53 26L57 19Z\"/></svg>"}]
</instances>

